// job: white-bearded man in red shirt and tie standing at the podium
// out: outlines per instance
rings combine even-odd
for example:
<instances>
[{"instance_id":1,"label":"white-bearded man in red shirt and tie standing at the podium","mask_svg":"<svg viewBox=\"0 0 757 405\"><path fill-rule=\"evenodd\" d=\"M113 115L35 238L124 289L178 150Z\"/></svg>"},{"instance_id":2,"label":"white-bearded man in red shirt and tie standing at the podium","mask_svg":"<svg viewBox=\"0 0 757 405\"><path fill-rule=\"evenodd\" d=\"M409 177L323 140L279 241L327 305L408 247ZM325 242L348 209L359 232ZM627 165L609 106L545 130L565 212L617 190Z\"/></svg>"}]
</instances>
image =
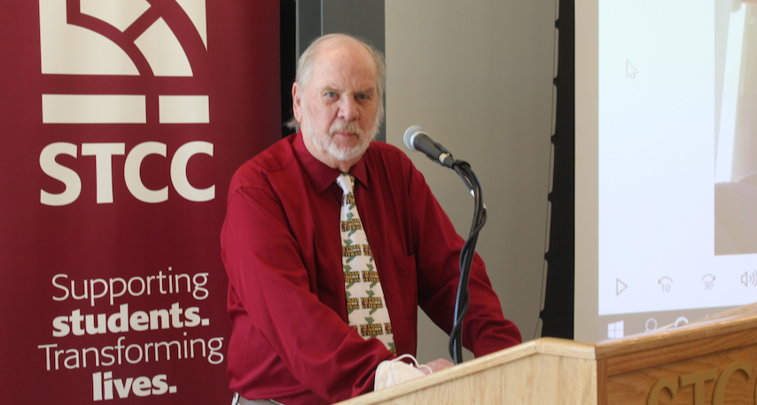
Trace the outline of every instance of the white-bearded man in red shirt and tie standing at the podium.
<instances>
[{"instance_id":1,"label":"white-bearded man in red shirt and tie standing at the podium","mask_svg":"<svg viewBox=\"0 0 757 405\"><path fill-rule=\"evenodd\" d=\"M242 405L332 403L370 392L379 363L415 355L418 305L445 331L452 327L464 241L410 159L371 141L384 115L385 70L380 53L355 38L316 40L300 57L292 88L300 131L231 180L222 256L230 282L228 375ZM343 210L355 207L367 237L361 269L352 269L345 252L355 246L339 229L340 215L350 215ZM363 302L376 308L357 325L353 312L366 308L353 305L349 288L371 274L379 293L366 291ZM478 256L469 285L464 346L486 355L519 343ZM374 322L379 316L388 319Z\"/></svg>"}]
</instances>

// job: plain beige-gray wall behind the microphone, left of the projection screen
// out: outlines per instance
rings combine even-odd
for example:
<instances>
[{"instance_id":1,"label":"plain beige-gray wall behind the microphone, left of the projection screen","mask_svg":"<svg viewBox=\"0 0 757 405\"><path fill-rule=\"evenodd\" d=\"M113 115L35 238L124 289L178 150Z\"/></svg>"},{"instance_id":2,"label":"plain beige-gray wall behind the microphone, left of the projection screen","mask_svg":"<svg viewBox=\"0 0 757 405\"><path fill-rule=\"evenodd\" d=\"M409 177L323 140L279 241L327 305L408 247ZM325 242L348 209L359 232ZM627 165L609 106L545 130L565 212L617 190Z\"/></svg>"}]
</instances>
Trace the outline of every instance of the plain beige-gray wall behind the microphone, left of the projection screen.
<instances>
[{"instance_id":1,"label":"plain beige-gray wall behind the microphone, left of the projection screen","mask_svg":"<svg viewBox=\"0 0 757 405\"><path fill-rule=\"evenodd\" d=\"M471 164L488 208L477 251L524 340L535 336L545 271L556 7L386 0L386 141L404 149L405 129L424 126ZM410 155L467 237L473 202L462 180ZM443 332L425 316L419 329L418 360L449 358Z\"/></svg>"}]
</instances>

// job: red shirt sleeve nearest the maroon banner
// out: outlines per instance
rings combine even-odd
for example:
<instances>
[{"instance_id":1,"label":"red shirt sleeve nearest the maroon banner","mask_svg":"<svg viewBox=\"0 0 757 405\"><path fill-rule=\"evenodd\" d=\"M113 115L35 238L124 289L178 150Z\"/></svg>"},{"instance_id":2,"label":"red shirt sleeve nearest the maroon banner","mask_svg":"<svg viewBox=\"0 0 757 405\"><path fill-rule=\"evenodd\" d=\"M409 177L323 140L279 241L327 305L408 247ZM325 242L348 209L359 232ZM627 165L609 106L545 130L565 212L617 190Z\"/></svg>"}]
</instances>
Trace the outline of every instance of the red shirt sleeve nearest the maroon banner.
<instances>
[{"instance_id":1,"label":"red shirt sleeve nearest the maroon banner","mask_svg":"<svg viewBox=\"0 0 757 405\"><path fill-rule=\"evenodd\" d=\"M376 367L392 353L379 340L363 340L312 292L315 280L269 187L230 195L222 255L237 316L249 317L249 333L268 346L247 350L273 350L302 386L327 401L372 390Z\"/></svg>"}]
</instances>

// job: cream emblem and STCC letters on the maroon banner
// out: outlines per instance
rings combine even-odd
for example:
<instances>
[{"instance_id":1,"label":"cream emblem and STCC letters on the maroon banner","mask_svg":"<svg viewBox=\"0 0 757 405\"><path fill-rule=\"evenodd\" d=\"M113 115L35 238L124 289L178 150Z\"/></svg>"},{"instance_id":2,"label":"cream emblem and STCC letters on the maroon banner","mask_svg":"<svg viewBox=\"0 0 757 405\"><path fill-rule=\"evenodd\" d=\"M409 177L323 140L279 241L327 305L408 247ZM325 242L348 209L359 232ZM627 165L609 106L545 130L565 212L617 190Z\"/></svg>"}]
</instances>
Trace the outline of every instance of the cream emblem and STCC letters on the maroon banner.
<instances>
[{"instance_id":1,"label":"cream emblem and STCC letters on the maroon banner","mask_svg":"<svg viewBox=\"0 0 757 405\"><path fill-rule=\"evenodd\" d=\"M39 0L43 124L209 124L207 89L196 80L207 59L205 1ZM175 150L171 157L168 149ZM41 150L40 168L65 188L41 189L40 203L67 205L81 195L83 169L77 173L60 164L62 156L69 162L95 157L98 204L113 203L113 159L121 156L124 183L137 200L168 200L168 185L144 185L143 161L153 156L169 162L178 195L210 201L215 185L192 186L187 165L200 154L213 157L213 151L207 141L144 141L129 151L126 142L52 142Z\"/></svg>"}]
</instances>

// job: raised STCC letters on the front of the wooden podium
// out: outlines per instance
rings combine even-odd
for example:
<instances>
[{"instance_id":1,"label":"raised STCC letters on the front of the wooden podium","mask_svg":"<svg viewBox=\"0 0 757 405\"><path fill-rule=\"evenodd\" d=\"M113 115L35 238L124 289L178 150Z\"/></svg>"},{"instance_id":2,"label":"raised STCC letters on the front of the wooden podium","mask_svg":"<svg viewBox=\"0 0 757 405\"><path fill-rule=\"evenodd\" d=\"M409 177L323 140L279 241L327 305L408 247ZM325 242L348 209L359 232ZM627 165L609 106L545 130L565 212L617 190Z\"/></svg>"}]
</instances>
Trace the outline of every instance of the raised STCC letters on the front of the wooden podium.
<instances>
[{"instance_id":1,"label":"raised STCC letters on the front of the wooden podium","mask_svg":"<svg viewBox=\"0 0 757 405\"><path fill-rule=\"evenodd\" d=\"M659 393L662 390L667 390L671 398L675 398L679 388L692 386L694 390L693 405L705 405L705 385L708 381L714 380L715 386L711 403L723 405L726 399L726 387L734 374L742 374L748 382L752 379L752 364L742 361L730 363L720 372L720 375L718 375L717 369L711 369L680 376L678 379L660 378L652 386L646 403L647 405L659 405ZM752 398L754 403L757 403L757 391L750 395L749 399Z\"/></svg>"}]
</instances>

